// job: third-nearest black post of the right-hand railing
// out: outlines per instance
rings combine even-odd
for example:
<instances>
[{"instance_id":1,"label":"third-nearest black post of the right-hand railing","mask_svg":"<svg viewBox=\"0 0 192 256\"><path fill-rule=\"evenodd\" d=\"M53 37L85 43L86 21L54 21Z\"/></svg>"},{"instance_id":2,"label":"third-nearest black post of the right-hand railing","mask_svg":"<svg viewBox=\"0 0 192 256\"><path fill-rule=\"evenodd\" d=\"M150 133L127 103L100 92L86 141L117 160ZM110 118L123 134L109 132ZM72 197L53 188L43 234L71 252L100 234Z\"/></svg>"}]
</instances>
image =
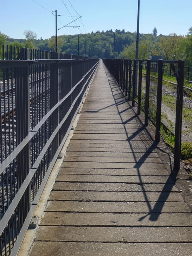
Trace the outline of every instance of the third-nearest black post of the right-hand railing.
<instances>
[{"instance_id":1,"label":"third-nearest black post of the right-hand railing","mask_svg":"<svg viewBox=\"0 0 192 256\"><path fill-rule=\"evenodd\" d=\"M148 125L149 86L150 86L150 60L147 60L147 74L146 74L146 86L145 86L145 126Z\"/></svg>"}]
</instances>

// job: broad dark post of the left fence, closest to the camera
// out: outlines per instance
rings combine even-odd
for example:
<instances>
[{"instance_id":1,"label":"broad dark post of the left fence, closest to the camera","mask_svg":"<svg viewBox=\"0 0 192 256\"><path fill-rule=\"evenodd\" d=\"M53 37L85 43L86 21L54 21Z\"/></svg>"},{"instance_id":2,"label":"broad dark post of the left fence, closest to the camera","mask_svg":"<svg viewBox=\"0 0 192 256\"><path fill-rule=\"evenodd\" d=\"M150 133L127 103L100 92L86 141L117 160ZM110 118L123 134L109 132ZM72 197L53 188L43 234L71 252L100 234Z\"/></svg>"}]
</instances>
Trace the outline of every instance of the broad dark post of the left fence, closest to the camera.
<instances>
[{"instance_id":1,"label":"broad dark post of the left fence, closest to the camera","mask_svg":"<svg viewBox=\"0 0 192 256\"><path fill-rule=\"evenodd\" d=\"M29 49L20 51L20 59L29 59ZM30 67L17 67L15 69L15 109L16 109L16 143L17 146L25 139L30 131ZM17 155L17 190L31 168L30 142ZM18 205L18 218L21 226L31 207L31 185L28 186Z\"/></svg>"}]
</instances>

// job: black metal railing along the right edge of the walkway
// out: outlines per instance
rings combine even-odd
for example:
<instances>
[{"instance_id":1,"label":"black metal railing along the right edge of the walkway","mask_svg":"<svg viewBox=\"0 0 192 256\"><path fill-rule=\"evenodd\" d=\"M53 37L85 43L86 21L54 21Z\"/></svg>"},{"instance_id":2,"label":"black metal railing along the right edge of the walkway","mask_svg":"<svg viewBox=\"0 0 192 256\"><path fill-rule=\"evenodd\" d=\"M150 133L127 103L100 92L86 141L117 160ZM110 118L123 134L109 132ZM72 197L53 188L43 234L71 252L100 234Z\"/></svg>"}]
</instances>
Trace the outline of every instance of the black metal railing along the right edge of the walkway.
<instances>
[{"instance_id":1,"label":"black metal railing along the right edge of the walkway","mask_svg":"<svg viewBox=\"0 0 192 256\"><path fill-rule=\"evenodd\" d=\"M175 116L175 147L174 147L174 169L180 168L182 111L183 111L183 84L185 67L184 61L151 61L139 60L138 90L136 84L137 63L136 60L125 59L104 59L104 64L110 71L113 78L131 100L132 107L137 104L137 114L141 110L145 113L145 125L149 120L155 126L155 141L160 141L161 113L162 113L162 90L163 90L163 67L170 65L172 72L177 79L177 99ZM146 74L143 73L143 66ZM136 91L137 90L137 91Z\"/></svg>"}]
</instances>

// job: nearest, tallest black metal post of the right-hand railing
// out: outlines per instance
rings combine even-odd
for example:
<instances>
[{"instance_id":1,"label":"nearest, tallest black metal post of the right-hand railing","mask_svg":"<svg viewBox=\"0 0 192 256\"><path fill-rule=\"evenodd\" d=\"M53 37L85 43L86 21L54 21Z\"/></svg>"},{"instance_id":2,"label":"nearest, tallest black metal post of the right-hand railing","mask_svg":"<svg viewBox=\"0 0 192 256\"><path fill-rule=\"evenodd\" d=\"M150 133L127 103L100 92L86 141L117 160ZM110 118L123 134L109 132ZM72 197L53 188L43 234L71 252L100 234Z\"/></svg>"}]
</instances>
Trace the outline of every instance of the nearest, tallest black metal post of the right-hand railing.
<instances>
[{"instance_id":1,"label":"nearest, tallest black metal post of the right-hand railing","mask_svg":"<svg viewBox=\"0 0 192 256\"><path fill-rule=\"evenodd\" d=\"M177 85L176 119L175 119L174 170L180 169L184 71L185 71L185 61L183 61L183 60L178 61L178 85Z\"/></svg>"}]
</instances>

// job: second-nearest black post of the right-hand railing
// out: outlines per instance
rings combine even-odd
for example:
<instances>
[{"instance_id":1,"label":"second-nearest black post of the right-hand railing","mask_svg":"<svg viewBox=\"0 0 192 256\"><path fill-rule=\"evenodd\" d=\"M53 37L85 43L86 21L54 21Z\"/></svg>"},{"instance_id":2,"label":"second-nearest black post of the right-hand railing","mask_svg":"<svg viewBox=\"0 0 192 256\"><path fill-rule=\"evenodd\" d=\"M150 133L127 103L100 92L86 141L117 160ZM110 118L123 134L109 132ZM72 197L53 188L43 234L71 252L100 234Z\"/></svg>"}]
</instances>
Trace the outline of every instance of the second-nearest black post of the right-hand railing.
<instances>
[{"instance_id":1,"label":"second-nearest black post of the right-hand railing","mask_svg":"<svg viewBox=\"0 0 192 256\"><path fill-rule=\"evenodd\" d=\"M163 89L163 60L158 62L158 83L157 83L157 109L156 109L156 125L155 125L155 141L160 141L161 128L161 102Z\"/></svg>"}]
</instances>

